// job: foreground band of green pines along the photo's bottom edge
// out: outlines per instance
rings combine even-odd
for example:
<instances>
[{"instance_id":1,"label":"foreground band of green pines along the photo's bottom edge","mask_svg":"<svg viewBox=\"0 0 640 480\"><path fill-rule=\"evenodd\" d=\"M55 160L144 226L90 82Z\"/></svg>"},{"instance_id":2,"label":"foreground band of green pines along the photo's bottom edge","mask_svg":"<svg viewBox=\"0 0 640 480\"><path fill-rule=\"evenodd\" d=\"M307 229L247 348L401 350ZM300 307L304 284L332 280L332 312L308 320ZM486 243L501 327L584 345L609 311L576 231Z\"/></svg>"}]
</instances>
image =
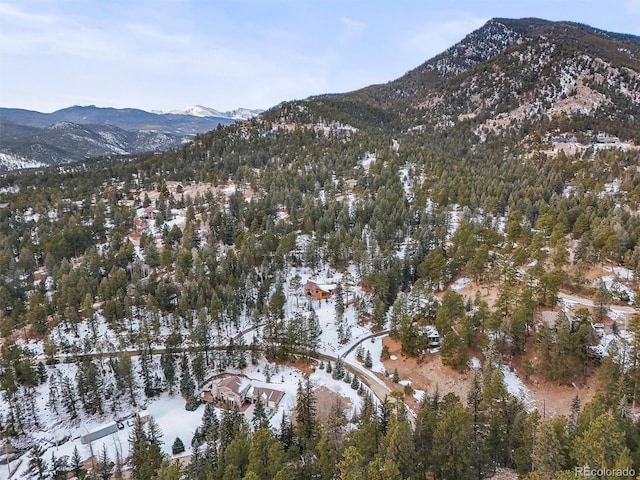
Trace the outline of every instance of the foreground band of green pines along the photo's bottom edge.
<instances>
[{"instance_id":1,"label":"foreground band of green pines along the photo's bottom edge","mask_svg":"<svg viewBox=\"0 0 640 480\"><path fill-rule=\"evenodd\" d=\"M276 430L258 408L250 425L237 410L218 417L207 406L186 465L162 454L162 433L153 420L146 426L137 421L129 439L131 475L136 480L464 480L511 468L527 480L560 480L574 475L575 467L637 471L637 421L615 399L598 393L582 408L576 396L569 416L543 418L507 393L497 358L495 351L487 352L465 399L436 391L423 398L415 418L399 396L382 403L365 396L353 418L336 400L319 417L308 379L298 385L295 421L283 415ZM184 448L176 438L172 451ZM71 459L48 461L36 446L27 477L64 478L72 471L88 478L76 457L77 452ZM91 478L117 478L121 462L103 450Z\"/></svg>"}]
</instances>

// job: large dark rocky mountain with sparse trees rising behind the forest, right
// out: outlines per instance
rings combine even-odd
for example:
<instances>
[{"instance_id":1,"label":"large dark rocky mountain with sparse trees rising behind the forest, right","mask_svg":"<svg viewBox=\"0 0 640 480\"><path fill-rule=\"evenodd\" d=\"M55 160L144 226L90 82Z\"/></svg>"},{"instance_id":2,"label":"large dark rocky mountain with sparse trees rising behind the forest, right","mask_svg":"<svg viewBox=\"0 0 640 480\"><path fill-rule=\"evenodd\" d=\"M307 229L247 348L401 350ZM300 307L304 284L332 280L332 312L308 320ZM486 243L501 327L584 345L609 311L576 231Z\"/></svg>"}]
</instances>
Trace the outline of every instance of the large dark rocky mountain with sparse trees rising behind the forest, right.
<instances>
[{"instance_id":1,"label":"large dark rocky mountain with sparse trees rising behind the forest, right","mask_svg":"<svg viewBox=\"0 0 640 480\"><path fill-rule=\"evenodd\" d=\"M571 22L493 19L397 80L283 105L284 123L488 134L561 129L640 140L640 38ZM544 131L544 132L543 132Z\"/></svg>"}]
</instances>

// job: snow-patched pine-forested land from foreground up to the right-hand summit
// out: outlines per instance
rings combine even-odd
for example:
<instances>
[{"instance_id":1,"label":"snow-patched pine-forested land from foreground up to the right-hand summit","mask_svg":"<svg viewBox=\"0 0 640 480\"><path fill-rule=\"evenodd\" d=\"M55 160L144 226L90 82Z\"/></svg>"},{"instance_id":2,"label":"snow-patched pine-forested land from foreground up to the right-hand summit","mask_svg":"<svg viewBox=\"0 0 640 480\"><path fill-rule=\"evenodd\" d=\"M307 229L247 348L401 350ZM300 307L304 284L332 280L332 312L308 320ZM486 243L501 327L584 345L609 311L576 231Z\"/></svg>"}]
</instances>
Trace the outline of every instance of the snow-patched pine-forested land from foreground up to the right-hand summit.
<instances>
[{"instance_id":1,"label":"snow-patched pine-forested land from foreground up to the right-hand summit","mask_svg":"<svg viewBox=\"0 0 640 480\"><path fill-rule=\"evenodd\" d=\"M639 45L494 19L386 85L0 177L8 471L635 478Z\"/></svg>"}]
</instances>

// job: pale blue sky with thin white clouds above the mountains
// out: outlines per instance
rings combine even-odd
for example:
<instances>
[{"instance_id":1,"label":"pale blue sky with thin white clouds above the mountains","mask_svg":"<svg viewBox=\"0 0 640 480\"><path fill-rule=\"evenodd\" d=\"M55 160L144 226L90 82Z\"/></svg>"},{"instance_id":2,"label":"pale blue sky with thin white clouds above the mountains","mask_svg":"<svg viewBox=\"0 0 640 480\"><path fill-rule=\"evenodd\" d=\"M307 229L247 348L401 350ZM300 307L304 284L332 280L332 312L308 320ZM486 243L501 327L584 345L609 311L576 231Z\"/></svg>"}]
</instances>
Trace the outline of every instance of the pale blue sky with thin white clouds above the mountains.
<instances>
[{"instance_id":1,"label":"pale blue sky with thin white clouds above the mountains","mask_svg":"<svg viewBox=\"0 0 640 480\"><path fill-rule=\"evenodd\" d=\"M0 106L267 109L391 81L494 17L640 35L640 0L0 0Z\"/></svg>"}]
</instances>

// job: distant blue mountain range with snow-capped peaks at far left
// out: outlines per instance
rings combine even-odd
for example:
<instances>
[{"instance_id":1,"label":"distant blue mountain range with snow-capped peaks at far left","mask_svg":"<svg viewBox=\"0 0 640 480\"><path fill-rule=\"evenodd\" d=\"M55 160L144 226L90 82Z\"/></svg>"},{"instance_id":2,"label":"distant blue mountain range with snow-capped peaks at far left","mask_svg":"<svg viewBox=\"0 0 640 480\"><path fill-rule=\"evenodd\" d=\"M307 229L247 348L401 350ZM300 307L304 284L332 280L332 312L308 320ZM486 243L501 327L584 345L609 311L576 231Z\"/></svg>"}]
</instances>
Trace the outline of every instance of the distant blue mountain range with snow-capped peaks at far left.
<instances>
[{"instance_id":1,"label":"distant blue mountain range with snow-capped peaks at far left","mask_svg":"<svg viewBox=\"0 0 640 480\"><path fill-rule=\"evenodd\" d=\"M259 110L194 106L171 113L74 106L53 113L0 108L0 170L175 148Z\"/></svg>"}]
</instances>

